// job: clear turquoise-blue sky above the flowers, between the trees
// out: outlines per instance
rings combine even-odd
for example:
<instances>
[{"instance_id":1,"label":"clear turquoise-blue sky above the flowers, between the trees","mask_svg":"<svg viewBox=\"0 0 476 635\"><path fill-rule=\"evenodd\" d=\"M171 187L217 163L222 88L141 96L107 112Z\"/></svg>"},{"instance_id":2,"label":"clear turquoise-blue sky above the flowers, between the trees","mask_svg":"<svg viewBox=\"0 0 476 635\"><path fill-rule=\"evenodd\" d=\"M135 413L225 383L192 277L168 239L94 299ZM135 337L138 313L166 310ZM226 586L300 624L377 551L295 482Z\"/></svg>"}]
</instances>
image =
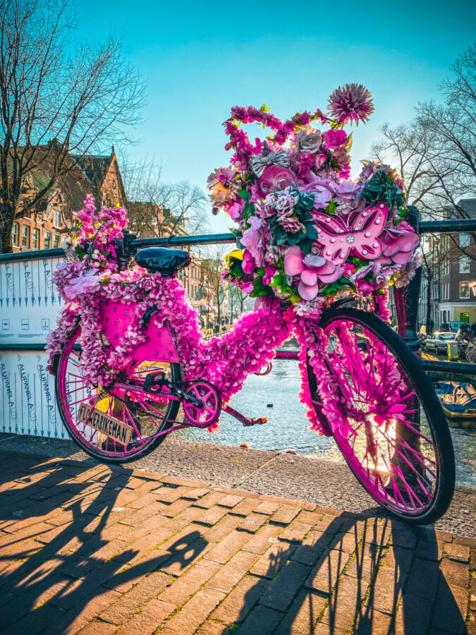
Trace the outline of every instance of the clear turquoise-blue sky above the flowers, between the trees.
<instances>
[{"instance_id":1,"label":"clear turquoise-blue sky above the flowers, between the trees","mask_svg":"<svg viewBox=\"0 0 476 635\"><path fill-rule=\"evenodd\" d=\"M441 0L253 4L77 0L80 35L125 30L124 56L147 81L141 142L128 154L163 162L166 181L205 187L228 161L221 123L231 106L266 103L286 119L325 109L329 93L353 81L369 88L375 106L370 123L354 130L357 174L377 128L438 99L448 66L476 40L474 0L451 8Z\"/></svg>"}]
</instances>

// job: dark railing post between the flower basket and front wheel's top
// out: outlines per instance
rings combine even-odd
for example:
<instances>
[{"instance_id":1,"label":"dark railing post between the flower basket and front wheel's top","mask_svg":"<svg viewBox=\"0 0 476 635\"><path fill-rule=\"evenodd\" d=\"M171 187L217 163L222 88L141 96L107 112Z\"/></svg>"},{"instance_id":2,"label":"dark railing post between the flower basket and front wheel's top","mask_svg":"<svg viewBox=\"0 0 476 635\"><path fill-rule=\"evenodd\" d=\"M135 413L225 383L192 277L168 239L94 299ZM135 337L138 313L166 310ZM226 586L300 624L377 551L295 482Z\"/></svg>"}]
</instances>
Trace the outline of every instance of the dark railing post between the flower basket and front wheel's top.
<instances>
[{"instance_id":1,"label":"dark railing post between the flower basket and front wheel's top","mask_svg":"<svg viewBox=\"0 0 476 635\"><path fill-rule=\"evenodd\" d=\"M419 234L420 212L413 205L409 205L406 220ZM418 304L420 301L420 286L422 283L422 267L415 272L415 277L408 286L397 289L393 286L393 298L395 300L398 334L403 337L410 349L417 353L420 349L420 341L417 338Z\"/></svg>"}]
</instances>

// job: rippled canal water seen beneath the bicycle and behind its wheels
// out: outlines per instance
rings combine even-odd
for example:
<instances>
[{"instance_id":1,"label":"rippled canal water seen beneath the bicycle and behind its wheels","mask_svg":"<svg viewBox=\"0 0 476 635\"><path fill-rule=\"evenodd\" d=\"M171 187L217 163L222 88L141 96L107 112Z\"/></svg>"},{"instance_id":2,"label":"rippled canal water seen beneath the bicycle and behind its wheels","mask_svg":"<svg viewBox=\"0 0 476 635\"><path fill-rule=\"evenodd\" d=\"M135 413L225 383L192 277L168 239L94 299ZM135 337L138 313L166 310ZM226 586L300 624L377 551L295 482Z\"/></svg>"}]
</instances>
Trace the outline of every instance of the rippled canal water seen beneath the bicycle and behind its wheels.
<instances>
[{"instance_id":1,"label":"rippled canal water seen beneath the bicycle and behind its wheels","mask_svg":"<svg viewBox=\"0 0 476 635\"><path fill-rule=\"evenodd\" d=\"M316 456L326 461L344 463L330 437L321 437L308 429L305 408L299 400L300 377L298 363L276 360L265 377L250 375L243 390L233 397L230 405L245 416L268 418L264 425L244 428L226 413L220 418L220 430L189 428L182 430L184 439L224 445L242 442L255 449L283 452L295 449L303 456ZM451 425L451 437L456 454L456 480L463 485L476 486L476 430Z\"/></svg>"}]
</instances>

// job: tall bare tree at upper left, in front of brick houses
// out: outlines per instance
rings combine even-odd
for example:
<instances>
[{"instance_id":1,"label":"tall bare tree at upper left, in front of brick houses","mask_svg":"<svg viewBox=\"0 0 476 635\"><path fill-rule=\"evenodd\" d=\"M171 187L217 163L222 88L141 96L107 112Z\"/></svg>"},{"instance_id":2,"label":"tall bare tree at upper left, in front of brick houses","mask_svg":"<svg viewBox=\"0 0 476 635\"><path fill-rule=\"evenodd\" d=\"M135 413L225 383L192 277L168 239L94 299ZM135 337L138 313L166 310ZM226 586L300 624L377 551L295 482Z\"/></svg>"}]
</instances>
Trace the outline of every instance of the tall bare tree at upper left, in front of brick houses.
<instances>
[{"instance_id":1,"label":"tall bare tree at upper left, in front of brick houses","mask_svg":"<svg viewBox=\"0 0 476 635\"><path fill-rule=\"evenodd\" d=\"M6 253L16 217L33 212L77 174L77 157L130 141L130 128L140 121L143 85L122 59L121 37L90 44L75 33L71 0L0 0L0 238ZM38 173L47 178L35 182Z\"/></svg>"}]
</instances>

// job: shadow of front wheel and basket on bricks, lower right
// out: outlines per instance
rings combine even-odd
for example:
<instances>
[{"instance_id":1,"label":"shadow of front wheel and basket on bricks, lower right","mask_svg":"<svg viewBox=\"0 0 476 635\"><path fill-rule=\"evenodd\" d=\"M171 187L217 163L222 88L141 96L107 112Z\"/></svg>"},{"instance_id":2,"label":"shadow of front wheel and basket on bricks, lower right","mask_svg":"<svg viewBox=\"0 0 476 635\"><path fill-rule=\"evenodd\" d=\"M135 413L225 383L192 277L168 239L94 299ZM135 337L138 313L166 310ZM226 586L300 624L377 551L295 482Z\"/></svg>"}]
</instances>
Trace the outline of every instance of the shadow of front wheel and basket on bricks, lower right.
<instances>
[{"instance_id":1,"label":"shadow of front wheel and basket on bricks, lower right","mask_svg":"<svg viewBox=\"0 0 476 635\"><path fill-rule=\"evenodd\" d=\"M273 635L425 635L445 628L468 633L441 571L441 545L433 528L344 516L324 533L270 548L264 572L269 583L258 591L262 581L257 578L232 629L255 635L266 615L276 619L269 630ZM304 571L303 585L290 597L286 579ZM276 609L284 612L282 618Z\"/></svg>"}]
</instances>

